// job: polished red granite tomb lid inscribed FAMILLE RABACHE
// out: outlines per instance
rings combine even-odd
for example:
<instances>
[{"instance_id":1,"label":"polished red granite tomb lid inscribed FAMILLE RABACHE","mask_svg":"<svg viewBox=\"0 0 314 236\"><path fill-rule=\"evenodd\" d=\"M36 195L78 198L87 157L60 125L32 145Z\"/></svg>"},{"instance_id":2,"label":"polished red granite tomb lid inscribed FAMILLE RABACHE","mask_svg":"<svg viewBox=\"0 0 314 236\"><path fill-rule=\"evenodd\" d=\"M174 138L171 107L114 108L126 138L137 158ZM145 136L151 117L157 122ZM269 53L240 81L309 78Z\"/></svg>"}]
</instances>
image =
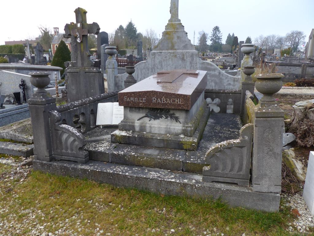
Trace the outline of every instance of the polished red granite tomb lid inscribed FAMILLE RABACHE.
<instances>
[{"instance_id":1,"label":"polished red granite tomb lid inscribed FAMILLE RABACHE","mask_svg":"<svg viewBox=\"0 0 314 236\"><path fill-rule=\"evenodd\" d=\"M118 93L119 105L190 110L207 85L203 70L160 71Z\"/></svg>"}]
</instances>

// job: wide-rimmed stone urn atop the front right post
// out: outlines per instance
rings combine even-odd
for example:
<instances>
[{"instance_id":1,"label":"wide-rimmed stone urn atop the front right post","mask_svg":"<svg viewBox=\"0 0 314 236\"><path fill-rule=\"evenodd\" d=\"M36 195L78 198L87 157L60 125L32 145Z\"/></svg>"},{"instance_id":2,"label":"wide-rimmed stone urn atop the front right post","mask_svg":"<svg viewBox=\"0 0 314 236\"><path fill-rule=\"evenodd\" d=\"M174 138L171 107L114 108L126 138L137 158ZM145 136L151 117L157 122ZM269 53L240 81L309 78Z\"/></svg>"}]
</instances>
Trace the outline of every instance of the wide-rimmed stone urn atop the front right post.
<instances>
[{"instance_id":1,"label":"wide-rimmed stone urn atop the front right post","mask_svg":"<svg viewBox=\"0 0 314 236\"><path fill-rule=\"evenodd\" d=\"M281 78L284 77L283 74L261 74L255 76L257 81L255 82L255 88L258 92L263 94L260 102L274 103L276 99L273 97L274 93L277 93L282 87ZM271 105L271 104L269 104Z\"/></svg>"}]
</instances>

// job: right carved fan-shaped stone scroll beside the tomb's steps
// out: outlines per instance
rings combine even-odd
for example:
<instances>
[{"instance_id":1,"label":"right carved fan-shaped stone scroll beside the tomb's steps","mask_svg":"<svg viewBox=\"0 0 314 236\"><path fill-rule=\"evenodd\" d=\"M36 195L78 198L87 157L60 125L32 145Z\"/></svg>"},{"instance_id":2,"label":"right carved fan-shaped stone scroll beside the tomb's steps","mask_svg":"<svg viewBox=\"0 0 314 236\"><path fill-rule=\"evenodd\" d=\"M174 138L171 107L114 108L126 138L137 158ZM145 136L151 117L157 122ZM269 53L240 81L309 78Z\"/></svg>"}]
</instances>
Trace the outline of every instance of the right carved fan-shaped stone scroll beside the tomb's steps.
<instances>
[{"instance_id":1,"label":"right carved fan-shaped stone scroll beside the tomb's steps","mask_svg":"<svg viewBox=\"0 0 314 236\"><path fill-rule=\"evenodd\" d=\"M253 124L240 130L238 139L216 144L205 155L203 182L229 182L249 186Z\"/></svg>"}]
</instances>

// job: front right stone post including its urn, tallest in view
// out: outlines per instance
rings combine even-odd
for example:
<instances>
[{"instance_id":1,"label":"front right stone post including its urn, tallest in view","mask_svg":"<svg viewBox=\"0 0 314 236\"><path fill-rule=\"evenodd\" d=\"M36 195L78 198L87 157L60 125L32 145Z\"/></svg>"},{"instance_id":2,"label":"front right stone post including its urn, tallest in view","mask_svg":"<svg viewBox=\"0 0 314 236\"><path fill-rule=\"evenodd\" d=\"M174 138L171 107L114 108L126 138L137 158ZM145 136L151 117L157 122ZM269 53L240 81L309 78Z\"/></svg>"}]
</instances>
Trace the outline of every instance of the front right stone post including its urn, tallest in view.
<instances>
[{"instance_id":1,"label":"front right stone post including its urn, tallest in view","mask_svg":"<svg viewBox=\"0 0 314 236\"><path fill-rule=\"evenodd\" d=\"M282 87L282 74L256 76L263 94L255 111L252 184L255 192L280 193L284 112L273 97Z\"/></svg>"}]
</instances>

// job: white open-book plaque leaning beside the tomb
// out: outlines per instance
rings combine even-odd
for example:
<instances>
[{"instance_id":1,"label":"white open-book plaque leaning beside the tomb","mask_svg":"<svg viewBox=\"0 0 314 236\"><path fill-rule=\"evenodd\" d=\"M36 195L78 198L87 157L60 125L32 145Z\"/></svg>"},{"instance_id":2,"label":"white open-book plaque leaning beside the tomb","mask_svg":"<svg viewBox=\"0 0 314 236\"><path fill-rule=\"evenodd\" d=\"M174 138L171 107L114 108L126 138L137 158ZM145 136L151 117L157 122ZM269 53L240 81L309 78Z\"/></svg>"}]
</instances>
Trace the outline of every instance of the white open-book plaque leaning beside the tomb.
<instances>
[{"instance_id":1,"label":"white open-book plaque leaning beside the tomb","mask_svg":"<svg viewBox=\"0 0 314 236\"><path fill-rule=\"evenodd\" d=\"M99 103L96 125L118 125L123 119L123 106L119 103Z\"/></svg>"}]
</instances>

